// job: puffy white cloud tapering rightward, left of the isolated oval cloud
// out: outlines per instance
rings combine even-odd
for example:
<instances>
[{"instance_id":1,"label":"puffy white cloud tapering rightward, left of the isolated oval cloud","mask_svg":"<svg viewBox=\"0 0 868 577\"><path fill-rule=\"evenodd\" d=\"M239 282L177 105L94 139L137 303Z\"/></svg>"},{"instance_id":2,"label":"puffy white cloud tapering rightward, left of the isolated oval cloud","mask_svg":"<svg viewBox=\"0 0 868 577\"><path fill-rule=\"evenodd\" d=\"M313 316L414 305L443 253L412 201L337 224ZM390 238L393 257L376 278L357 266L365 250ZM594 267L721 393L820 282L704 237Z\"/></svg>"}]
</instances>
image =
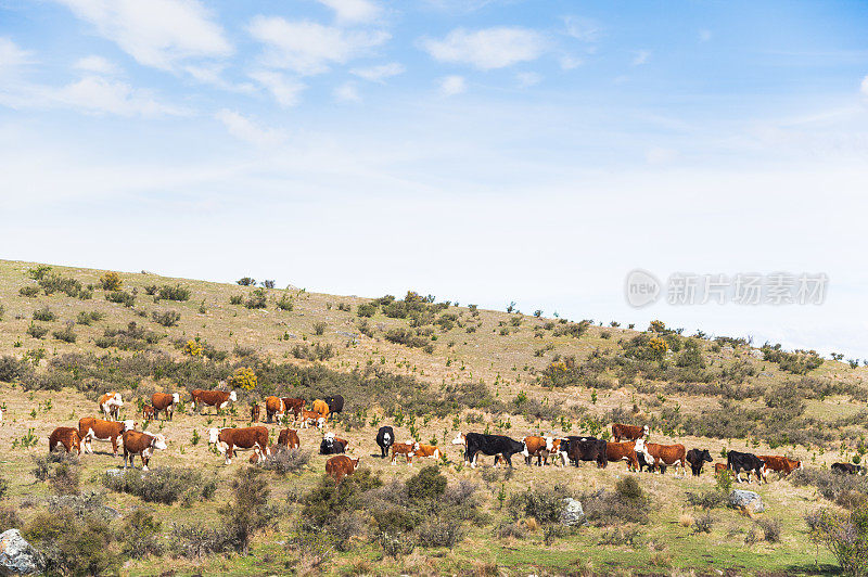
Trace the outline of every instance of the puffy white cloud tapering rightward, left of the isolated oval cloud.
<instances>
[{"instance_id":1,"label":"puffy white cloud tapering rightward, left of the isolated oval cloud","mask_svg":"<svg viewBox=\"0 0 868 577\"><path fill-rule=\"evenodd\" d=\"M298 74L327 72L332 63L344 64L391 36L382 30L343 30L315 22L290 22L278 16L256 16L251 35L268 47L265 63Z\"/></svg>"}]
</instances>

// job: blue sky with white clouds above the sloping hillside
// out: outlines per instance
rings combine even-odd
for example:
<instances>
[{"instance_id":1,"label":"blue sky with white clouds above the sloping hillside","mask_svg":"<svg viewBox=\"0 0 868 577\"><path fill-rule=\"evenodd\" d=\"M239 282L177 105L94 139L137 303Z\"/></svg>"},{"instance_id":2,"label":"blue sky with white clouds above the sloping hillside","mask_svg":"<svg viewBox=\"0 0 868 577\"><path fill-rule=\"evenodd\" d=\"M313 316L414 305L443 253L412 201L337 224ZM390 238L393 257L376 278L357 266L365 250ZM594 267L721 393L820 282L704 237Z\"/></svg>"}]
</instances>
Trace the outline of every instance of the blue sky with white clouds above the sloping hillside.
<instances>
[{"instance_id":1,"label":"blue sky with white clouds above the sloping hillside","mask_svg":"<svg viewBox=\"0 0 868 577\"><path fill-rule=\"evenodd\" d=\"M0 0L3 256L868 357L864 2ZM633 309L635 268L825 272Z\"/></svg>"}]
</instances>

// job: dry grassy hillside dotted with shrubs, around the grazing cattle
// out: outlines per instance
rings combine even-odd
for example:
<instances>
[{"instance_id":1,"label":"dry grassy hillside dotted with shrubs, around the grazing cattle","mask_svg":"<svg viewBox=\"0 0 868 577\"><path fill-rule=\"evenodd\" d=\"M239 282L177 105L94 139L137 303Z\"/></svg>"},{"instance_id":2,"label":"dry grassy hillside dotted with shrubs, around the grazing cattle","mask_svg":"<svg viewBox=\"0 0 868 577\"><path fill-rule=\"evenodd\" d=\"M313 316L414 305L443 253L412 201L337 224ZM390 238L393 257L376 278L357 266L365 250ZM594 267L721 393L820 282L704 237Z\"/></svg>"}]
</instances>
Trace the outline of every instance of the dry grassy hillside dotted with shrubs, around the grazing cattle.
<instances>
[{"instance_id":1,"label":"dry grassy hillside dotted with shrubs, around the grazing cattle","mask_svg":"<svg viewBox=\"0 0 868 577\"><path fill-rule=\"evenodd\" d=\"M56 492L98 491L122 515L108 522L111 531L139 523L136 511L144 508L161 523L153 533L162 551L144 554L106 537L101 550L119 556L104 561L124 573L810 573L834 559L810 544L804 515L824 507L845 511L860 500L842 497L850 487L830 488L824 469L865 452L865 367L687 336L663 323L634 330L610 319L537 318L414 293L342 297L146 272L118 273L119 290L106 290L113 280L99 270L0 261L0 437L8 448L0 475L9 484L3 514L14 509L18 516L4 523L31 531L42 511L59 507L51 497ZM188 407L173 422L148 427L169 440L152 465L201 475L176 484L216 482L214 497L188 491L165 504L106 488L104 472L119 459L100 443L95 456L69 465L80 471L77 489L34 476L48 434L94 414L101 393L120 390L126 416L140 421L137 399L155 390L240 385L233 379L241 369L253 371L255 386L239 387L239 403L225 414L194 415ZM333 393L347 405L330 426L379 480L365 485L365 473L355 493L323 498L330 489L319 485L327 459L316 454L321 434L302 431L309 461L286 475L259 476L270 490L269 507L279 509L268 528L256 531L251 555L173 551L193 539L179 527L221 528L234 518L219 510L235 498L232 480L246 469L247 454L224 465L207 449L209 426L245 426L248 402L269 394L312 399ZM649 424L651 440L709 448L717 461L726 449L788 454L819 473L758 489L768 508L761 518L713 507L705 531L694 522L706 513L688 493L715 493L707 471L681 478L630 474L621 463L561 470L521 459L510 473L492 467L490 459L471 471L449 445L457 431L608 435L612 421ZM403 483L422 464L392 466L371 457L379 454L373 438L381 424L395 426L399 439L445 449L445 493L407 497L412 489ZM279 425L267 426L276 437ZM629 497L623 484L615 489L628 477L639 479L642 497ZM379 483L384 486L372 488ZM528 488L540 502L523 497ZM855 482L852 488L856 496L865 490ZM565 530L550 523L546 503L564 496L592 511L589 525ZM371 503L395 510L385 518ZM314 527L317 511L320 525ZM779 539L766 530L771 525ZM201 544L204 537L197 539Z\"/></svg>"}]
</instances>

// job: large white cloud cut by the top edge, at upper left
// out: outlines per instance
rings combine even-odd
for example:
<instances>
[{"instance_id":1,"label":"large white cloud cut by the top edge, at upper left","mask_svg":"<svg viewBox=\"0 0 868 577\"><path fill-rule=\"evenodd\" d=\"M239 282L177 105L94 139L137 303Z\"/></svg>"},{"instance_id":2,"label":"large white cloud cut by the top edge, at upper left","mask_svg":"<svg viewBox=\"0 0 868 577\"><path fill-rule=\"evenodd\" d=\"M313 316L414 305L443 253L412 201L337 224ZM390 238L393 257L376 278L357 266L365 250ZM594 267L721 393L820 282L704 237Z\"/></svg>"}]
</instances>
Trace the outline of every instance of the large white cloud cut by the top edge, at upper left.
<instances>
[{"instance_id":1,"label":"large white cloud cut by the top edge, at upper left","mask_svg":"<svg viewBox=\"0 0 868 577\"><path fill-rule=\"evenodd\" d=\"M232 47L197 0L55 0L145 66L174 69L190 57L226 56Z\"/></svg>"}]
</instances>

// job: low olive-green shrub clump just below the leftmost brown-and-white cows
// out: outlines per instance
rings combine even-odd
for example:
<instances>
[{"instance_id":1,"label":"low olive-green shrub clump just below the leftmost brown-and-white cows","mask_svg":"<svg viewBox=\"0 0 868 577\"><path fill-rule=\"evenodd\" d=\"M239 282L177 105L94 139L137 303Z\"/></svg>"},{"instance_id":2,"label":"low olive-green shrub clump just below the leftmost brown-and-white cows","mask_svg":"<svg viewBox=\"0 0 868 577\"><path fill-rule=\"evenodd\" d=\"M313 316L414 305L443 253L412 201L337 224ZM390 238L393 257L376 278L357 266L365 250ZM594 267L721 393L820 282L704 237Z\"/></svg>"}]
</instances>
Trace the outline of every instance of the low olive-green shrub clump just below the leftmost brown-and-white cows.
<instances>
[{"instance_id":1,"label":"low olive-green shrub clump just below the leftmost brown-and-white cows","mask_svg":"<svg viewBox=\"0 0 868 577\"><path fill-rule=\"evenodd\" d=\"M157 466L145 473L127 470L105 473L104 487L117 492L135 495L152 503L171 504L179 499L203 500L214 495L216 480L205 480L202 473L190 469Z\"/></svg>"}]
</instances>

